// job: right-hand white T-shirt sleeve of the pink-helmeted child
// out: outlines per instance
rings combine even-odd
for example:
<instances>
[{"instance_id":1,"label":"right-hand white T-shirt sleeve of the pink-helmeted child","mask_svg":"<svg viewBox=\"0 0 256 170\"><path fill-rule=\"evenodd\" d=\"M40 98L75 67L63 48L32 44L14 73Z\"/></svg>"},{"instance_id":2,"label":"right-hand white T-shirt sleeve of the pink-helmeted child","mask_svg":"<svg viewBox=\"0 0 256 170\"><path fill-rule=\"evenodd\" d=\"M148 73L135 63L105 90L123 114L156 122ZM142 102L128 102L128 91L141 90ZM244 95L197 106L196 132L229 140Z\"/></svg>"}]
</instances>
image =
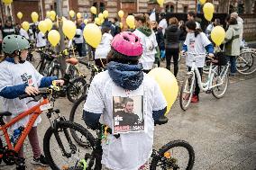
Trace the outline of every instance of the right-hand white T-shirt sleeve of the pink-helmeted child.
<instances>
[{"instance_id":1,"label":"right-hand white T-shirt sleeve of the pink-helmeted child","mask_svg":"<svg viewBox=\"0 0 256 170\"><path fill-rule=\"evenodd\" d=\"M153 103L153 111L160 111L167 106L167 102L165 100L164 95L160 90L160 86L155 83L154 85L154 103Z\"/></svg>"}]
</instances>

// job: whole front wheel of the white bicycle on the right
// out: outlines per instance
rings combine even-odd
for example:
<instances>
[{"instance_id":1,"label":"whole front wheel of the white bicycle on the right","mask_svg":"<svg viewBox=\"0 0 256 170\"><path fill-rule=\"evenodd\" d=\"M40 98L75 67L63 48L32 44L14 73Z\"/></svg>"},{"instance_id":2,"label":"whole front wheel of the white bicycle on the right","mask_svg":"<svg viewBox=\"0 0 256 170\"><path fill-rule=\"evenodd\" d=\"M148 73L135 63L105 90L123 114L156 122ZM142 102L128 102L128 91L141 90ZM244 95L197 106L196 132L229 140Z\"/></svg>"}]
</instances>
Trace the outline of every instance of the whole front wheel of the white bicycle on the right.
<instances>
[{"instance_id":1,"label":"whole front wheel of the white bicycle on the right","mask_svg":"<svg viewBox=\"0 0 256 170\"><path fill-rule=\"evenodd\" d=\"M194 92L195 88L195 75L187 76L182 84L179 94L179 105L183 111L186 111Z\"/></svg>"}]
</instances>

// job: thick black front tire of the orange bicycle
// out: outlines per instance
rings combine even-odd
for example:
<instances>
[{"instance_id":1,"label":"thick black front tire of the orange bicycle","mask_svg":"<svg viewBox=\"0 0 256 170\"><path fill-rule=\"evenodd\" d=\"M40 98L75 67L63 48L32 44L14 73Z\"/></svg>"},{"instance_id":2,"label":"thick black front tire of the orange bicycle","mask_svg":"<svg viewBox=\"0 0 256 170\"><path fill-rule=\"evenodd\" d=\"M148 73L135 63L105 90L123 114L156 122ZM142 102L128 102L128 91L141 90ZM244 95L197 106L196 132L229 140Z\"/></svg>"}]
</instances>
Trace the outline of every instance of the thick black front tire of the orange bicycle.
<instances>
[{"instance_id":1,"label":"thick black front tire of the orange bicycle","mask_svg":"<svg viewBox=\"0 0 256 170\"><path fill-rule=\"evenodd\" d=\"M96 140L94 139L93 135L78 123L71 122L71 121L58 121L56 123L55 129L58 130L58 133L59 133L59 129L78 130L84 137L87 138L90 146L95 146ZM50 154L50 150L52 150L52 148L50 147L50 138L54 137L55 129L50 127L48 130L46 130L43 138L43 152L50 168L53 170L60 170L62 169L62 167L59 167L56 165L56 163L53 161L53 158ZM56 157L56 155L54 155L53 157ZM84 158L84 156L82 157Z\"/></svg>"}]
</instances>

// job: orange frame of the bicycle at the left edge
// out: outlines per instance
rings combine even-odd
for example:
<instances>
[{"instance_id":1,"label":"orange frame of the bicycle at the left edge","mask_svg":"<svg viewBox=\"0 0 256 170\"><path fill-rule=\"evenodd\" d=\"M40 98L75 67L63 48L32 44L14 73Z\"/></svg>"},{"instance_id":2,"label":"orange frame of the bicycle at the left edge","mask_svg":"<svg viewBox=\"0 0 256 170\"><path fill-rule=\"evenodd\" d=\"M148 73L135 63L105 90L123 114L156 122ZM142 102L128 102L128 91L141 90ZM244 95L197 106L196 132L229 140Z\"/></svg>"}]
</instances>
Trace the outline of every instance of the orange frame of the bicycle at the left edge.
<instances>
[{"instance_id":1,"label":"orange frame of the bicycle at the left edge","mask_svg":"<svg viewBox=\"0 0 256 170\"><path fill-rule=\"evenodd\" d=\"M23 146L23 142L26 139L26 137L28 136L29 132L32 130L32 125L33 123L36 121L36 119L38 118L38 116L43 112L41 111L41 106L50 103L48 98L43 99L43 101L35 106L33 106L31 109L29 109L28 111L25 111L21 114L19 114L18 116L16 116L14 119L12 119L11 121L7 122L5 125L0 127L0 130L3 131L3 134L5 135L5 141L7 144L8 149L10 150L14 150L15 152L19 152L19 150L21 149L21 147ZM23 130L21 137L18 139L16 145L13 147L11 144L11 140L10 137L7 133L8 128L10 128L10 126L12 126L15 122L22 120L24 117L28 116L28 115L32 115L32 117L30 118L30 120L28 121L28 123L25 126L25 129ZM0 155L0 157L3 157L3 155Z\"/></svg>"}]
</instances>

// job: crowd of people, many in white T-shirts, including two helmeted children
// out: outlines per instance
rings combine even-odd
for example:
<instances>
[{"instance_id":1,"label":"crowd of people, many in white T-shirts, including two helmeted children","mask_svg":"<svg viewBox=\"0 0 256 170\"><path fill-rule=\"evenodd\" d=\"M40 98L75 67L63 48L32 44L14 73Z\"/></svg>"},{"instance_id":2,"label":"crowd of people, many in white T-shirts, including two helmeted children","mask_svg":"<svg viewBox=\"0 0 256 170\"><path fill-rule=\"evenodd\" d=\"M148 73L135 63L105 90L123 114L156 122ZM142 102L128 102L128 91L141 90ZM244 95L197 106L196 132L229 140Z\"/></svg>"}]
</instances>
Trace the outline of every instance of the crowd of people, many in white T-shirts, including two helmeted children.
<instances>
[{"instance_id":1,"label":"crowd of people, many in white T-shirts, including two helmeted children","mask_svg":"<svg viewBox=\"0 0 256 170\"><path fill-rule=\"evenodd\" d=\"M122 32L117 18L114 22L106 19L100 26L102 31L100 44L96 49L88 46L94 53L96 65L106 67L107 71L96 75L90 85L83 115L87 126L96 130L100 122L113 127L114 96L129 98L142 96L143 102L140 108L143 109L142 113L146 112L142 125L144 131L126 132L118 137L120 139L112 135L107 137L108 143L102 144L104 169L146 169L151 156L154 122L163 118L167 106L159 85L147 73L154 67L160 67L161 59L166 59L166 68L171 70L170 60L173 58L174 76L178 76L180 51L207 52L213 58L215 48L210 33L216 25L221 24L220 20L215 19L215 22L207 26L206 31L202 31L200 23L196 22L194 12L187 13L187 22L178 21L176 17L167 20L165 13L160 13L159 24L151 21L149 15L145 13L135 14L134 18L136 28L133 32ZM226 22L223 50L230 58L230 76L234 76L235 56L240 54L242 42L242 19L237 13L232 13ZM69 45L74 43L78 56L83 57L87 53L82 33L85 23L81 20L76 23L76 35ZM12 117L14 117L36 104L28 104L26 100L17 99L20 94L38 94L38 87L49 86L56 77L41 76L32 64L26 61L29 42L35 42L37 48L45 47L48 44L47 34L43 34L36 27L25 31L19 24L14 26L9 20L1 30L0 44L5 58L0 63L0 96L4 97L5 111L13 112ZM196 63L201 75L205 59L202 58ZM187 60L186 65L189 70L191 61ZM59 82L63 84L62 81ZM200 88L196 82L192 103L199 101L199 92ZM132 100L130 102L132 103ZM39 119L37 123L40 121ZM26 121L19 123L14 129L25 126ZM47 163L41 154L36 126L37 124L29 133L34 154L33 163L45 166ZM20 151L19 156L23 157L23 150Z\"/></svg>"}]
</instances>

